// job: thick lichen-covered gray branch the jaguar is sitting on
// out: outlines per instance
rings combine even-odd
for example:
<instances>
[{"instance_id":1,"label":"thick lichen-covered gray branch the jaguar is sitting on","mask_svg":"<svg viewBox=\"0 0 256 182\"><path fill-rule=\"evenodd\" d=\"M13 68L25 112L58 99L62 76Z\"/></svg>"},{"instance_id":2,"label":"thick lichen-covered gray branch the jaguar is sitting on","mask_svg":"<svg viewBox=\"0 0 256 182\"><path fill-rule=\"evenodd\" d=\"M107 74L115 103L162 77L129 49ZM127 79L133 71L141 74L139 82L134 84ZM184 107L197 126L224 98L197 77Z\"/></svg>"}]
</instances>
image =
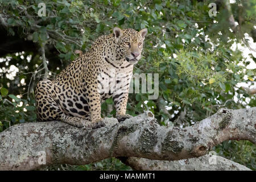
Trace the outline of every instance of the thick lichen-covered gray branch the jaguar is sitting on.
<instances>
[{"instance_id":1,"label":"thick lichen-covered gray branch the jaguar is sitting on","mask_svg":"<svg viewBox=\"0 0 256 182\"><path fill-rule=\"evenodd\" d=\"M82 165L122 156L180 160L203 156L225 140L256 142L256 107L220 109L185 128L160 126L150 111L121 123L115 118L104 121L106 126L96 130L57 121L11 126L0 133L0 169Z\"/></svg>"}]
</instances>

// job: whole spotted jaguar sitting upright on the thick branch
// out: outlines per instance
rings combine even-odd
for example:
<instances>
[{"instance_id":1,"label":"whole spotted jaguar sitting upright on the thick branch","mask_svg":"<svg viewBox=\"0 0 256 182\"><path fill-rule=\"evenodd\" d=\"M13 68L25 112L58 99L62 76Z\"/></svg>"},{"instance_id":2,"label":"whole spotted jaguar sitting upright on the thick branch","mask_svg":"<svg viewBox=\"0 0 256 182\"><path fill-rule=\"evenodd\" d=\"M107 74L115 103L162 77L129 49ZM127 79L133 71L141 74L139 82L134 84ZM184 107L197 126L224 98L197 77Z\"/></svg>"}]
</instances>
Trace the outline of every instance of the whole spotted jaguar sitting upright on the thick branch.
<instances>
[{"instance_id":1,"label":"whole spotted jaguar sitting upright on the thick branch","mask_svg":"<svg viewBox=\"0 0 256 182\"><path fill-rule=\"evenodd\" d=\"M90 50L68 65L55 80L39 81L35 89L39 121L56 119L92 129L104 126L101 102L111 96L118 121L129 118L126 104L133 64L141 59L146 34L146 28L137 32L115 27L113 34L96 39Z\"/></svg>"}]
</instances>

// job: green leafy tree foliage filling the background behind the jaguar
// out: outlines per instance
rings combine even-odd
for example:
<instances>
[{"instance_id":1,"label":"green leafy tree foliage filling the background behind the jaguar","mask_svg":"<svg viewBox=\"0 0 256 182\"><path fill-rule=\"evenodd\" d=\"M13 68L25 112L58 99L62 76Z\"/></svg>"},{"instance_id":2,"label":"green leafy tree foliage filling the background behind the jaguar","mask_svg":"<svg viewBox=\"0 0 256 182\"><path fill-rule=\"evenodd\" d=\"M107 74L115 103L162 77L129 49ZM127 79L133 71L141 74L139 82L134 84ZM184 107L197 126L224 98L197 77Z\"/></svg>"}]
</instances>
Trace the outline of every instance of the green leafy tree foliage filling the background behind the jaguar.
<instances>
[{"instance_id":1,"label":"green leafy tree foliage filling the background behind the jaguar","mask_svg":"<svg viewBox=\"0 0 256 182\"><path fill-rule=\"evenodd\" d=\"M34 87L53 78L102 34L113 27L147 27L143 57L134 73L159 73L159 98L130 94L127 113L150 110L161 125L190 126L221 107L256 106L255 1L42 1L0 0L0 131L34 122ZM248 50L249 55L241 50ZM104 117L115 115L112 99L102 104ZM223 142L218 155L255 169L255 146ZM63 167L63 166L62 166ZM69 166L68 166L69 167ZM74 168L74 167L72 167ZM76 169L126 169L117 159Z\"/></svg>"}]
</instances>

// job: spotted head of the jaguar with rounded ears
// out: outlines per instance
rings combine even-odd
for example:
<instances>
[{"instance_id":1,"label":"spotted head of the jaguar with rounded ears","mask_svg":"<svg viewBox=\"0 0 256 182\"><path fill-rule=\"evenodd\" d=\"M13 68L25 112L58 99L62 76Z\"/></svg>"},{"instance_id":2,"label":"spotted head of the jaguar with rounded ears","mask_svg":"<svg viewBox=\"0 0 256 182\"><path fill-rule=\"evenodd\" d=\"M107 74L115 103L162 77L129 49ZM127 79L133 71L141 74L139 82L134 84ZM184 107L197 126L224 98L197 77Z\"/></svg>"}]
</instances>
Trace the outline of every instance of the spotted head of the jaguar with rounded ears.
<instances>
[{"instance_id":1,"label":"spotted head of the jaguar with rounded ears","mask_svg":"<svg viewBox=\"0 0 256 182\"><path fill-rule=\"evenodd\" d=\"M143 28L138 32L130 28L121 30L115 27L113 32L117 57L125 58L131 64L137 63L141 59L143 41L147 35L147 28Z\"/></svg>"}]
</instances>

